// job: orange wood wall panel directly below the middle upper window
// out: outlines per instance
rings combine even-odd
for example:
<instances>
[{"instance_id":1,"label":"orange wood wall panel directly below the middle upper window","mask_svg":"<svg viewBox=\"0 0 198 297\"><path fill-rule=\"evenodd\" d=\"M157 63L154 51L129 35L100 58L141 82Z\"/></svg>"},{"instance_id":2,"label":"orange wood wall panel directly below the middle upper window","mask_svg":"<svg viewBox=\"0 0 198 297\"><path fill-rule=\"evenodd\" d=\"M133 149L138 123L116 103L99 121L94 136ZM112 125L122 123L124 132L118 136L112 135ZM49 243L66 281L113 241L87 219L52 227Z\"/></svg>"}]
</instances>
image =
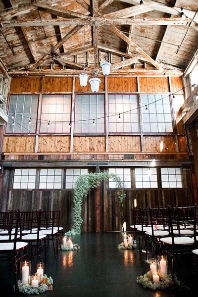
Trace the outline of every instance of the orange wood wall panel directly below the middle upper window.
<instances>
[{"instance_id":1,"label":"orange wood wall panel directly below the middle upper window","mask_svg":"<svg viewBox=\"0 0 198 297\"><path fill-rule=\"evenodd\" d=\"M105 152L105 136L74 136L73 151L76 152Z\"/></svg>"}]
</instances>

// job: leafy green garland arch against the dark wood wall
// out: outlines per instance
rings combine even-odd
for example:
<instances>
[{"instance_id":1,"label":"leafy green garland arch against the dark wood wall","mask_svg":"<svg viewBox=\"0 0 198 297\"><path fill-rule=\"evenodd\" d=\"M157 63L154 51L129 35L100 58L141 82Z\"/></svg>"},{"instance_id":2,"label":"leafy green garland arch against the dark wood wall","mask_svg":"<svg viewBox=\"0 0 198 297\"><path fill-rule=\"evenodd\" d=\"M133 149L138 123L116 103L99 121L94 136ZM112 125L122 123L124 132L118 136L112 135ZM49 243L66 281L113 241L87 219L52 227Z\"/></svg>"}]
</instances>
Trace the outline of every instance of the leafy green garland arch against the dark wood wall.
<instances>
[{"instance_id":1,"label":"leafy green garland arch against the dark wood wall","mask_svg":"<svg viewBox=\"0 0 198 297\"><path fill-rule=\"evenodd\" d=\"M116 195L118 198L118 206L120 211L121 223L124 223L124 199L126 197L124 191L124 182L121 178L113 173L89 173L88 175L81 175L75 184L74 193L74 208L73 208L73 226L72 230L65 233L65 235L76 235L81 233L81 225L83 222L82 204L83 198L86 196L90 189L97 188L100 182L111 178L117 184Z\"/></svg>"}]
</instances>

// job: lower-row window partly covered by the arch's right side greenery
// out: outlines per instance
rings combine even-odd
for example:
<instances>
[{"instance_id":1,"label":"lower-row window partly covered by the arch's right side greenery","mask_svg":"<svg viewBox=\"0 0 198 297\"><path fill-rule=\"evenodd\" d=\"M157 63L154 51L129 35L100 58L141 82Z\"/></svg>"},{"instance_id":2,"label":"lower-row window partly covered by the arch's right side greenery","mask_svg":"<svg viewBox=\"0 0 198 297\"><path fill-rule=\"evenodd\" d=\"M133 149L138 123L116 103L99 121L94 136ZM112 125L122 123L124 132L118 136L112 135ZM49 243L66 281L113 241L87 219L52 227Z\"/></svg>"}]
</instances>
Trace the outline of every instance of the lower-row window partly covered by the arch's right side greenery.
<instances>
[{"instance_id":1,"label":"lower-row window partly covered by the arch's right side greenery","mask_svg":"<svg viewBox=\"0 0 198 297\"><path fill-rule=\"evenodd\" d=\"M131 188L131 169L130 168L109 168L109 173L114 173L118 175L121 180L124 182L124 187ZM117 182L114 182L111 178L108 181L109 188L117 188Z\"/></svg>"}]
</instances>

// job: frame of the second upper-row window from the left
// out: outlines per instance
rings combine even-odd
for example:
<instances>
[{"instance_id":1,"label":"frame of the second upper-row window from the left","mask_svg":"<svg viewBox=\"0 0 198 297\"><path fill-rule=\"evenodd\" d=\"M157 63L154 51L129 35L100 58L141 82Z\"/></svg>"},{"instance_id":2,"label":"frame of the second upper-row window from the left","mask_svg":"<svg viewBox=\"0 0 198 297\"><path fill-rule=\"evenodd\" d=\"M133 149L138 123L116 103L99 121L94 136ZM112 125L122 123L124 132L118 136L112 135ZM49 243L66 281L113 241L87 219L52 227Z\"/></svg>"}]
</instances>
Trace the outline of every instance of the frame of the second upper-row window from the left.
<instances>
[{"instance_id":1,"label":"frame of the second upper-row window from the left","mask_svg":"<svg viewBox=\"0 0 198 297\"><path fill-rule=\"evenodd\" d=\"M42 121L42 108L43 108L43 98L44 96L57 96L57 95L62 95L62 96L70 96L70 123L71 123L71 117L72 117L72 93L67 93L67 94L55 94L55 93L50 93L50 94L42 94L42 100L41 100L41 112L40 112L40 119L39 119L39 134L41 135L70 135L71 134L71 127L69 128L69 132L41 132L41 121ZM63 104L64 105L64 104ZM49 113L48 113L49 114ZM63 114L63 113L62 113ZM49 120L50 121L50 120ZM56 122L51 122L56 124ZM62 122L63 123L63 122ZM65 123L67 124L67 123ZM68 122L69 126L69 122Z\"/></svg>"}]
</instances>

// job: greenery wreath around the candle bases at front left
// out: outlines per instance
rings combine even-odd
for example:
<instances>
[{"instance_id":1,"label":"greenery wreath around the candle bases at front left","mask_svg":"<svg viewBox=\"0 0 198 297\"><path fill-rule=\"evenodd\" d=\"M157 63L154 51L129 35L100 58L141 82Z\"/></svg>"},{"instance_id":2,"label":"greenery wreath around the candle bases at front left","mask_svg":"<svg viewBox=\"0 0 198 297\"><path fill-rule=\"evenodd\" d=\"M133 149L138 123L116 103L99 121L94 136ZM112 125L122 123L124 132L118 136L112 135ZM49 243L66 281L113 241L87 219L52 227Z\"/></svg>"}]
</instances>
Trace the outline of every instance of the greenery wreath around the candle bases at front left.
<instances>
[{"instance_id":1,"label":"greenery wreath around the candle bases at front left","mask_svg":"<svg viewBox=\"0 0 198 297\"><path fill-rule=\"evenodd\" d=\"M32 286L29 284L22 284L21 280L18 280L18 291L24 295L39 295L40 293L44 293L46 291L53 291L52 285L52 278L44 274L42 282L40 283L39 287L36 288L32 288Z\"/></svg>"}]
</instances>

